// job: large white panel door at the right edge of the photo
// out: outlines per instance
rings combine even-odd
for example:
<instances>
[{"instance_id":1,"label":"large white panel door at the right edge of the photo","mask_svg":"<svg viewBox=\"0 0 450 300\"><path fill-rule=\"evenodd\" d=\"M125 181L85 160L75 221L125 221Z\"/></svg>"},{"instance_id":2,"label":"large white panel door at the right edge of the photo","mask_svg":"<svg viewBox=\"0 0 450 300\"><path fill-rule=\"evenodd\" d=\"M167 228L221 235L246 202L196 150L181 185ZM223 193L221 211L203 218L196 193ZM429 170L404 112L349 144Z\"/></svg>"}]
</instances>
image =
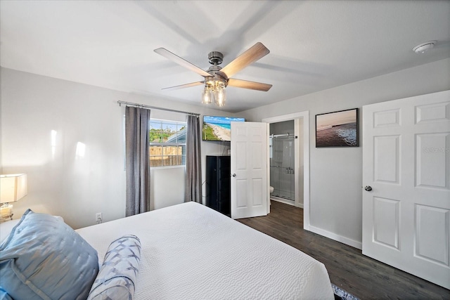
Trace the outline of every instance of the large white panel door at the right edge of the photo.
<instances>
[{"instance_id":1,"label":"large white panel door at the right edge of the photo","mask_svg":"<svg viewBox=\"0 0 450 300\"><path fill-rule=\"evenodd\" d=\"M363 254L450 289L450 91L363 107Z\"/></svg>"}]
</instances>

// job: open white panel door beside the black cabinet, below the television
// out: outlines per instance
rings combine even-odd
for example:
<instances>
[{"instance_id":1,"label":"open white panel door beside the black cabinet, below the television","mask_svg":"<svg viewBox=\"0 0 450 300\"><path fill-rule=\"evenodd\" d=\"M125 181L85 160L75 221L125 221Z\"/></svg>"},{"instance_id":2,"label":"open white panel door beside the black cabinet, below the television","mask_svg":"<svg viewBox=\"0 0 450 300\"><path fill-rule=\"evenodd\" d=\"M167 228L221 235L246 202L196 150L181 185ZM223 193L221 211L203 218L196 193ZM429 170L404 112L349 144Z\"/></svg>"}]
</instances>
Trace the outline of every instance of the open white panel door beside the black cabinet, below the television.
<instances>
[{"instance_id":1,"label":"open white panel door beside the black cabinet, below the television","mask_svg":"<svg viewBox=\"0 0 450 300\"><path fill-rule=\"evenodd\" d=\"M268 214L267 123L231 122L231 218Z\"/></svg>"}]
</instances>

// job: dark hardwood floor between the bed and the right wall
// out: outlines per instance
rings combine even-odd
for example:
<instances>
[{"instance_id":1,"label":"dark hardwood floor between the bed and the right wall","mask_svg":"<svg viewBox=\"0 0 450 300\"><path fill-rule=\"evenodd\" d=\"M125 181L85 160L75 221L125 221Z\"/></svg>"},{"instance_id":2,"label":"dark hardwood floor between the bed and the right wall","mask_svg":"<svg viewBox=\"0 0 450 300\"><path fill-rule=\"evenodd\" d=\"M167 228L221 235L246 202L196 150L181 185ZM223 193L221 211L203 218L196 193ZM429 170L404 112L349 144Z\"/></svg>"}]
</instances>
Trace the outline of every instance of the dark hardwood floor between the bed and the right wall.
<instances>
[{"instance_id":1,"label":"dark hardwood floor between the bed and the right wall","mask_svg":"<svg viewBox=\"0 0 450 300\"><path fill-rule=\"evenodd\" d=\"M321 261L334 285L360 299L450 299L449 289L364 256L359 249L303 230L303 209L271 201L269 215L237 221Z\"/></svg>"}]
</instances>

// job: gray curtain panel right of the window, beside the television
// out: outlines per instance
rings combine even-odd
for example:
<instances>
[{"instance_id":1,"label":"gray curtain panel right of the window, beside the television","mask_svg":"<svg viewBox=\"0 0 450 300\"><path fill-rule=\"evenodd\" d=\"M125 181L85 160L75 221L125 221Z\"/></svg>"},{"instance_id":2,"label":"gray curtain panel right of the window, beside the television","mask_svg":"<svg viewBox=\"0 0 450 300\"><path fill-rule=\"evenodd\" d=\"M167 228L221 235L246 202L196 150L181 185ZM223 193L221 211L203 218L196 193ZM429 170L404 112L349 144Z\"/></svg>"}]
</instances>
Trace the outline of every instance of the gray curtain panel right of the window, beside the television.
<instances>
[{"instance_id":1,"label":"gray curtain panel right of the window, beside the television","mask_svg":"<svg viewBox=\"0 0 450 300\"><path fill-rule=\"evenodd\" d=\"M200 118L186 117L186 188L184 202L202 203L202 156L200 153Z\"/></svg>"}]
</instances>

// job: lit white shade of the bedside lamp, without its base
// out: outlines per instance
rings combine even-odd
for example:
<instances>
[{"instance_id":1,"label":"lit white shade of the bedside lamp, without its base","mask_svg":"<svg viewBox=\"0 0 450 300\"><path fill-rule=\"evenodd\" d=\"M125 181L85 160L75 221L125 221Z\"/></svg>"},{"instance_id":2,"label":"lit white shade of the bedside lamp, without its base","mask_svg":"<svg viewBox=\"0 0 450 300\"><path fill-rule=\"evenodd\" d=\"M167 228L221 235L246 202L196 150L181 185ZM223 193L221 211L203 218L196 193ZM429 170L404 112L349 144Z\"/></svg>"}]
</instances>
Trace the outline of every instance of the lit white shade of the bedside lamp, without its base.
<instances>
[{"instance_id":1,"label":"lit white shade of the bedside lamp, without its base","mask_svg":"<svg viewBox=\"0 0 450 300\"><path fill-rule=\"evenodd\" d=\"M15 202L27 193L27 174L0 175L0 203Z\"/></svg>"}]
</instances>

